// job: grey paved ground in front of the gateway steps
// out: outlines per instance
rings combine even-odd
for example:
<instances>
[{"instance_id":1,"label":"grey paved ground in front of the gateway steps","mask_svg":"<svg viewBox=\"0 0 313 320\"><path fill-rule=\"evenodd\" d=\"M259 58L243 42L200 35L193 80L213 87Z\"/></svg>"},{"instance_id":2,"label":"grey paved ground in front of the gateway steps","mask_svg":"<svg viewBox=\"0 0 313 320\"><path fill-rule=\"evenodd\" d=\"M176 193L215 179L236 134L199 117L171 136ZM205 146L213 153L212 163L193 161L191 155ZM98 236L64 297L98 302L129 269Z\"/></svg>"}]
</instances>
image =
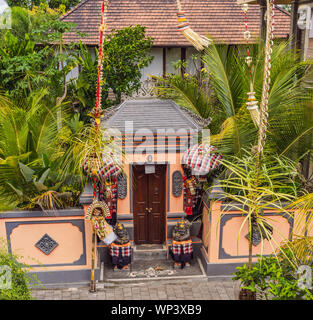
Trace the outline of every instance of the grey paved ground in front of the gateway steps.
<instances>
[{"instance_id":1,"label":"grey paved ground in front of the gateway steps","mask_svg":"<svg viewBox=\"0 0 313 320\"><path fill-rule=\"evenodd\" d=\"M36 289L38 300L234 300L231 279L158 279L99 283L97 293L88 287Z\"/></svg>"}]
</instances>

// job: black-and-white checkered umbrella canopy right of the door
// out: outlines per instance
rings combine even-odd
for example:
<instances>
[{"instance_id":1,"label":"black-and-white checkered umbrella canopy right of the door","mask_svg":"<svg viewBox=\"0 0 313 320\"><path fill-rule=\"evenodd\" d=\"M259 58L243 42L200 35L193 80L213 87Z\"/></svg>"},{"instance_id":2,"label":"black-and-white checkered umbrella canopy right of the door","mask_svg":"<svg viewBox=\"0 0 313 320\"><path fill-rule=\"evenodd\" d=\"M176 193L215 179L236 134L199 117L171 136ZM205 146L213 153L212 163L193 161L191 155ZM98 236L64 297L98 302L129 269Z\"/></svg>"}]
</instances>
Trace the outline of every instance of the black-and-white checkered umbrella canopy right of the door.
<instances>
[{"instance_id":1,"label":"black-and-white checkered umbrella canopy right of the door","mask_svg":"<svg viewBox=\"0 0 313 320\"><path fill-rule=\"evenodd\" d=\"M208 144L195 144L182 158L182 164L193 170L195 175L206 175L220 165L221 154L214 153L215 147Z\"/></svg>"}]
</instances>

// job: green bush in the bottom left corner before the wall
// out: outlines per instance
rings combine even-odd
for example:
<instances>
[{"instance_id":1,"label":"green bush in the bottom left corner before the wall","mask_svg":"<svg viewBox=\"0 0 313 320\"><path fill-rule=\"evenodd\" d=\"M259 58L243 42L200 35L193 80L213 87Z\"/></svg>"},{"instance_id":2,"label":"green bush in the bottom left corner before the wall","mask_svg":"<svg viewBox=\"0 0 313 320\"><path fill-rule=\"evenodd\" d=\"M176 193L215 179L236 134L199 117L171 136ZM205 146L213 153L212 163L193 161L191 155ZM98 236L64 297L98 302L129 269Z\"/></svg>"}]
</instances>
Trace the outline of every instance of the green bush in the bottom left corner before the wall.
<instances>
[{"instance_id":1,"label":"green bush in the bottom left corner before the wall","mask_svg":"<svg viewBox=\"0 0 313 320\"><path fill-rule=\"evenodd\" d=\"M22 257L10 254L2 240L0 243L0 266L8 266L12 274L12 288L0 288L0 300L33 300L30 286L39 285L38 280L30 277L29 266L18 262Z\"/></svg>"}]
</instances>

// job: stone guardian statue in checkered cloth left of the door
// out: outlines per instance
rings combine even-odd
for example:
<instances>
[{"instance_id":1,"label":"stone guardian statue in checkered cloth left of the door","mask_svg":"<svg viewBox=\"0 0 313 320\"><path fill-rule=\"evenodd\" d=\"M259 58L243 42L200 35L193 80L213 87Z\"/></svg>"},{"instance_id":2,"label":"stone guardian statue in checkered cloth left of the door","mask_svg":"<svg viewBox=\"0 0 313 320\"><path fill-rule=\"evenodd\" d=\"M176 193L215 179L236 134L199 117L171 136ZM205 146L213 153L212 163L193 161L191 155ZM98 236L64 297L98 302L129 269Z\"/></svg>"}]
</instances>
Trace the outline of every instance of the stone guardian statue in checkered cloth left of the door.
<instances>
[{"instance_id":1,"label":"stone guardian statue in checkered cloth left of the door","mask_svg":"<svg viewBox=\"0 0 313 320\"><path fill-rule=\"evenodd\" d=\"M110 245L110 256L114 270L128 270L132 258L132 248L128 232L120 222L115 224L113 231L117 236L117 239Z\"/></svg>"}]
</instances>

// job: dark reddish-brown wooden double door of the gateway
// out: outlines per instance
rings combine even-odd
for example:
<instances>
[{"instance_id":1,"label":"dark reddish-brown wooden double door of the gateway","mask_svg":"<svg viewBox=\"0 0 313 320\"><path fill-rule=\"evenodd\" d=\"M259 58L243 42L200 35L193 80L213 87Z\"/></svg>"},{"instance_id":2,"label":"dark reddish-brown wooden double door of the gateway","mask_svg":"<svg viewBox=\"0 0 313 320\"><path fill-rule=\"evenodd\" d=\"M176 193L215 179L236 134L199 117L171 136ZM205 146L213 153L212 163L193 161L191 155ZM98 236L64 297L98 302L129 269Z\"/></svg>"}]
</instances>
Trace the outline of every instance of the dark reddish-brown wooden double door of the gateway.
<instances>
[{"instance_id":1,"label":"dark reddish-brown wooden double door of the gateway","mask_svg":"<svg viewBox=\"0 0 313 320\"><path fill-rule=\"evenodd\" d=\"M136 244L160 244L165 240L166 165L133 166L134 240Z\"/></svg>"}]
</instances>

